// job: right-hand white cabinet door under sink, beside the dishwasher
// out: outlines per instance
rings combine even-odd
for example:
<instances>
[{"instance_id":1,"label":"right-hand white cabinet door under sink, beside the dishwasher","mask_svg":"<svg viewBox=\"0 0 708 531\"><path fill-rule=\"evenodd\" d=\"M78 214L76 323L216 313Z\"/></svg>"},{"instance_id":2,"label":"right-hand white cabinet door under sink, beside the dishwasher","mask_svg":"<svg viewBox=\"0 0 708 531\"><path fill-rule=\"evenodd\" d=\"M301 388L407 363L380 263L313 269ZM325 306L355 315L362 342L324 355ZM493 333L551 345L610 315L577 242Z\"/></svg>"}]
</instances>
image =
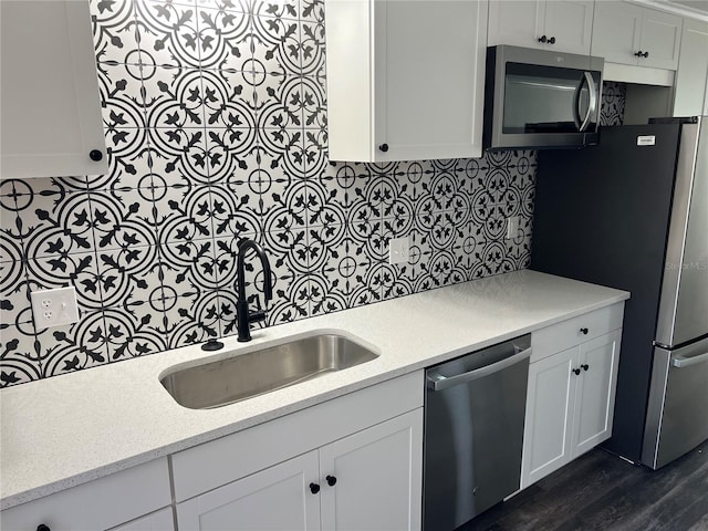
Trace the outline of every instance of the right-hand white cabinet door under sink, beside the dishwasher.
<instances>
[{"instance_id":1,"label":"right-hand white cabinet door under sink, beside the dishwasher","mask_svg":"<svg viewBox=\"0 0 708 531\"><path fill-rule=\"evenodd\" d=\"M322 529L420 529L423 409L337 440L320 455ZM327 477L336 482L327 485Z\"/></svg>"}]
</instances>

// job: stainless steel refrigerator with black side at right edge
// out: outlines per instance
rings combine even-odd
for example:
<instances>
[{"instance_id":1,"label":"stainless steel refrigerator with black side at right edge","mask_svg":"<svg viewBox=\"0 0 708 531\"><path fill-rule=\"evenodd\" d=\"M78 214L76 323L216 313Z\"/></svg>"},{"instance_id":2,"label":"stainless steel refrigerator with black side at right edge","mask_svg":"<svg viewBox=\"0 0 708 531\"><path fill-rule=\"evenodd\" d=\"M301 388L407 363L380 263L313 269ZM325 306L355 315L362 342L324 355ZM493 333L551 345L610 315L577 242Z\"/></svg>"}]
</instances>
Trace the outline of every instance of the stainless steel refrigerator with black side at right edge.
<instances>
[{"instance_id":1,"label":"stainless steel refrigerator with black side at right edge","mask_svg":"<svg viewBox=\"0 0 708 531\"><path fill-rule=\"evenodd\" d=\"M659 468L708 439L708 117L539 154L531 269L632 292L605 447Z\"/></svg>"}]
</instances>

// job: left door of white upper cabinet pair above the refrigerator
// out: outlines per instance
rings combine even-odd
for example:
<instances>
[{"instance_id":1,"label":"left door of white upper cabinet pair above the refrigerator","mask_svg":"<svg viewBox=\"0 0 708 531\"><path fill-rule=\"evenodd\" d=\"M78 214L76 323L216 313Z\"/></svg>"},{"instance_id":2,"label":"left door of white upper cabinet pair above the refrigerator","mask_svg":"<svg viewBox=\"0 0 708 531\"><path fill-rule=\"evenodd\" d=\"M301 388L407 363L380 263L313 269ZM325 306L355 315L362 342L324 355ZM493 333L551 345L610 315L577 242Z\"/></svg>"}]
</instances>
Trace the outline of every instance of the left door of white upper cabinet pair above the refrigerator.
<instances>
[{"instance_id":1,"label":"left door of white upper cabinet pair above the refrigerator","mask_svg":"<svg viewBox=\"0 0 708 531\"><path fill-rule=\"evenodd\" d=\"M611 63L637 64L642 37L639 6L620 1L595 2L591 54Z\"/></svg>"}]
</instances>

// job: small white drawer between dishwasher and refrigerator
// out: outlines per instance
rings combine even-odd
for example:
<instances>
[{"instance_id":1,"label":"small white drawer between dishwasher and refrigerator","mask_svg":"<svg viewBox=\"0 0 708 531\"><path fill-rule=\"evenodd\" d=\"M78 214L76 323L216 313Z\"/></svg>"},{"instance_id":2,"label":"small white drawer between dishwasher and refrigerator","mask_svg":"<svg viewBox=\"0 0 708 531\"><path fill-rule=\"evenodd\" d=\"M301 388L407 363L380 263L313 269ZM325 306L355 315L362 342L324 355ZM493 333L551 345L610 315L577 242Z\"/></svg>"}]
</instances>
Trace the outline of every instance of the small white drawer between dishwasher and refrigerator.
<instances>
[{"instance_id":1,"label":"small white drawer between dishwasher and refrigerator","mask_svg":"<svg viewBox=\"0 0 708 531\"><path fill-rule=\"evenodd\" d=\"M618 302L533 332L531 363L621 329L623 315L624 302Z\"/></svg>"}]
</instances>

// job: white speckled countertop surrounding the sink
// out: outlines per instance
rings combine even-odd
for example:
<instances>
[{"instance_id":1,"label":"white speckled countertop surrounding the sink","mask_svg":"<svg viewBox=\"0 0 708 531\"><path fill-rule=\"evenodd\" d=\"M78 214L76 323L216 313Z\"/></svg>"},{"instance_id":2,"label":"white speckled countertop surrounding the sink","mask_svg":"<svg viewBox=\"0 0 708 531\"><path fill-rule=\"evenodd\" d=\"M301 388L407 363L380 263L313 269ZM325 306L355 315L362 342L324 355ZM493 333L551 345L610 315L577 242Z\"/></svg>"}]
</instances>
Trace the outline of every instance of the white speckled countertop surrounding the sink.
<instances>
[{"instance_id":1,"label":"white speckled countertop surrounding the sink","mask_svg":"<svg viewBox=\"0 0 708 531\"><path fill-rule=\"evenodd\" d=\"M628 299L624 291L517 271L0 392L0 509L232 434L336 396ZM244 353L295 334L339 331L372 362L229 406L179 406L159 375L179 363Z\"/></svg>"}]
</instances>

